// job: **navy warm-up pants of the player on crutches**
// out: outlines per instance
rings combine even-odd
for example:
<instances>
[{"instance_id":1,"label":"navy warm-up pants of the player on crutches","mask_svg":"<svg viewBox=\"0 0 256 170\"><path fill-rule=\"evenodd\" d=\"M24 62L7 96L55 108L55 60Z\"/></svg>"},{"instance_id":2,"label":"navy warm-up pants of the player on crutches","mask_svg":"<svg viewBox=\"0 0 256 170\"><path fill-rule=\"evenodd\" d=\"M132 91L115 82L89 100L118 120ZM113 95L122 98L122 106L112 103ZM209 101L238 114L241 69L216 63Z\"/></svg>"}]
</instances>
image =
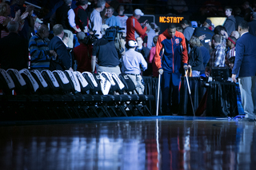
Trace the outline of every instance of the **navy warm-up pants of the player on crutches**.
<instances>
[{"instance_id":1,"label":"navy warm-up pants of the player on crutches","mask_svg":"<svg viewBox=\"0 0 256 170\"><path fill-rule=\"evenodd\" d=\"M178 113L179 104L179 85L181 81L181 73L167 73L162 74L162 113L170 114ZM170 99L172 104L170 105Z\"/></svg>"}]
</instances>

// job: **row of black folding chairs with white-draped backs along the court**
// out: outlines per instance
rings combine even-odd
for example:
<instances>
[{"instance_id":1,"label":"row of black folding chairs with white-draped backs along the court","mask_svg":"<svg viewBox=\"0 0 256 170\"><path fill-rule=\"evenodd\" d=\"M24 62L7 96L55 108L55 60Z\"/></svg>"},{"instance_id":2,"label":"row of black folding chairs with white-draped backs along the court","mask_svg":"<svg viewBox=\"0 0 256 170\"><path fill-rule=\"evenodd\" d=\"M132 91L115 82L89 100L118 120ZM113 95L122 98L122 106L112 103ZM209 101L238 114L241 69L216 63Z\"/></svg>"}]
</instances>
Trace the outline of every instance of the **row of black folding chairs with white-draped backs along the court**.
<instances>
[{"instance_id":1,"label":"row of black folding chairs with white-draped backs along the court","mask_svg":"<svg viewBox=\"0 0 256 170\"><path fill-rule=\"evenodd\" d=\"M0 69L0 89L7 119L145 116L151 115L146 102L154 101L154 96L134 94L127 75L106 72Z\"/></svg>"}]
</instances>

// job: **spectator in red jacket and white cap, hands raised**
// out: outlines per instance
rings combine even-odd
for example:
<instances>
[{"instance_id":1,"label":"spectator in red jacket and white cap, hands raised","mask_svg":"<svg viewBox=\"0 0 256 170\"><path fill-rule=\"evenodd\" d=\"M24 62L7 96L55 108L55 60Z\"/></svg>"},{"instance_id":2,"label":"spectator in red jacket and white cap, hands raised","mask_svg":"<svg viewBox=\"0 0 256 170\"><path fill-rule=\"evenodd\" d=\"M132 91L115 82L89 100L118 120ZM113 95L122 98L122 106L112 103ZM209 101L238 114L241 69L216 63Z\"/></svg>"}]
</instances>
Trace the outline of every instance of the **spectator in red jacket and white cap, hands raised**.
<instances>
[{"instance_id":1,"label":"spectator in red jacket and white cap, hands raised","mask_svg":"<svg viewBox=\"0 0 256 170\"><path fill-rule=\"evenodd\" d=\"M135 38L135 32L142 36L146 33L146 26L149 26L149 23L147 23L147 20L142 23L142 26L145 26L142 29L141 24L138 22L138 19L141 18L144 14L142 13L142 10L136 9L134 10L133 16L127 19L126 21L126 42L129 42L130 40L136 40Z\"/></svg>"}]
</instances>

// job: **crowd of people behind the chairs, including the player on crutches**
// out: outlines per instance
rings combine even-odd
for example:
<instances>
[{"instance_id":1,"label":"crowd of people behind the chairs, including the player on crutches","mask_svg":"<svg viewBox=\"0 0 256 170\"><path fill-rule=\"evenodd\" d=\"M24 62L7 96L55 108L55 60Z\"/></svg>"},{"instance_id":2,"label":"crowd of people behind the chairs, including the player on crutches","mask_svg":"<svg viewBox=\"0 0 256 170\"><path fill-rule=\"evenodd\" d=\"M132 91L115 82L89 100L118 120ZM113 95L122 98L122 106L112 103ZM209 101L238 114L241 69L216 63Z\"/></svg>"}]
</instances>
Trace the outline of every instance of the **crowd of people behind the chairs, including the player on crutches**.
<instances>
[{"instance_id":1,"label":"crowd of people behind the chairs, including the player on crutches","mask_svg":"<svg viewBox=\"0 0 256 170\"><path fill-rule=\"evenodd\" d=\"M158 72L163 71L162 89L172 86L173 97L177 98L177 101L173 100L176 102L174 105L178 105L177 85L182 64L186 69L192 69L193 77L208 77L213 67L237 68L236 44L241 37L241 29L248 26L249 33L256 35L256 6L250 6L249 2L243 3L242 14L238 7L215 8L220 4L211 0L207 2L207 8L200 11L202 14L222 11L226 15L223 26L214 26L210 19L206 19L202 26L183 19L180 26L170 25L162 34L159 34L160 28L155 23L147 20L138 22L144 15L142 10L133 10L128 18L125 6L117 6L116 1L98 0L92 4L88 0L62 0L50 10L49 22L46 18L38 18L34 6L25 6L24 2L0 3L2 69L29 67L129 73L139 93L143 93L140 76L158 77ZM185 1L163 3L172 14L189 12ZM94 9L89 12L90 5ZM118 30L112 39L106 34L110 29ZM30 65L27 65L29 52ZM131 57L133 55L134 58ZM164 105L169 102L169 90L167 96L164 95Z\"/></svg>"}]
</instances>

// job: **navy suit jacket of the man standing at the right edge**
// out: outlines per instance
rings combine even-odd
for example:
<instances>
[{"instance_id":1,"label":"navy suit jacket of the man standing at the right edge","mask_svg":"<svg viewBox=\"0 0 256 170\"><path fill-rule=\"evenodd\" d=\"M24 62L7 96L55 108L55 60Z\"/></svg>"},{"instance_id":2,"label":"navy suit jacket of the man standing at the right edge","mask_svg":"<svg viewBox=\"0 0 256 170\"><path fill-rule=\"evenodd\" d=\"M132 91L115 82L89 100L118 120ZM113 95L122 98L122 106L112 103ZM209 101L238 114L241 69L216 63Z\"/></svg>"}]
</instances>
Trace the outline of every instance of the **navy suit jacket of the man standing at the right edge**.
<instances>
[{"instance_id":1,"label":"navy suit jacket of the man standing at the right edge","mask_svg":"<svg viewBox=\"0 0 256 170\"><path fill-rule=\"evenodd\" d=\"M238 77L256 76L256 37L252 34L242 34L236 42L233 74Z\"/></svg>"}]
</instances>

